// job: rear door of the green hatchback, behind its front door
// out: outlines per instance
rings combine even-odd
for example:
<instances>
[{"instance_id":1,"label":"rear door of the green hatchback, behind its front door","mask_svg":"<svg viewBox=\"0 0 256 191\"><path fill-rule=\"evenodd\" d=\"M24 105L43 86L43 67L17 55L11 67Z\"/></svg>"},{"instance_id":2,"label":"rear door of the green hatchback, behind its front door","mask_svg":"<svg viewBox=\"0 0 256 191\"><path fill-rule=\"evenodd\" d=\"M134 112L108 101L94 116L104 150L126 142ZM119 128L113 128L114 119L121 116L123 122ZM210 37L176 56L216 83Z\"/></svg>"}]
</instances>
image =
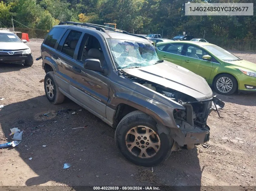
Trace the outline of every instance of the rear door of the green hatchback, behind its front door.
<instances>
[{"instance_id":1,"label":"rear door of the green hatchback, behind its front door","mask_svg":"<svg viewBox=\"0 0 256 191\"><path fill-rule=\"evenodd\" d=\"M181 65L181 51L184 43L167 43L157 46L158 57L177 65Z\"/></svg>"}]
</instances>

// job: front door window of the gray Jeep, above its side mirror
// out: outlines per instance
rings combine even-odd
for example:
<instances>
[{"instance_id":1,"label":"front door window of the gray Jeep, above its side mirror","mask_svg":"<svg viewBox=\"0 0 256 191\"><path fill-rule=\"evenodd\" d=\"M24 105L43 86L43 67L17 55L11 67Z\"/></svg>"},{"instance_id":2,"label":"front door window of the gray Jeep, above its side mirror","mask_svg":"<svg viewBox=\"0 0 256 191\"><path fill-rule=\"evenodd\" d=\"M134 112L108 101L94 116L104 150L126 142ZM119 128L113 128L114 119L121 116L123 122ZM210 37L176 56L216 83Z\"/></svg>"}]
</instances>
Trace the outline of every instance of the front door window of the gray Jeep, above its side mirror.
<instances>
[{"instance_id":1,"label":"front door window of the gray Jeep, above its side mirror","mask_svg":"<svg viewBox=\"0 0 256 191\"><path fill-rule=\"evenodd\" d=\"M98 39L92 35L85 34L83 37L83 46L80 46L78 59L84 62L86 59L99 59L103 64L105 58Z\"/></svg>"}]
</instances>

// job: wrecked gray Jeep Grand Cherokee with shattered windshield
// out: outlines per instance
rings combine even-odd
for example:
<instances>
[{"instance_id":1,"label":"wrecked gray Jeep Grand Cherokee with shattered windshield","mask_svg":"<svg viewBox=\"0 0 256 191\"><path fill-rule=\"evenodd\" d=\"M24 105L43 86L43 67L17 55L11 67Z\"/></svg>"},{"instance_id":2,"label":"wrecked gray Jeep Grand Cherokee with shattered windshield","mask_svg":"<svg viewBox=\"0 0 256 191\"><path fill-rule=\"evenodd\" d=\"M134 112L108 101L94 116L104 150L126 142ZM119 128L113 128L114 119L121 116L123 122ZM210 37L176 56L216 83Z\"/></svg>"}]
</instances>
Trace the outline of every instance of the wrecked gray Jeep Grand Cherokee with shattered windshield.
<instances>
[{"instance_id":1,"label":"wrecked gray Jeep Grand Cherokee with shattered windshield","mask_svg":"<svg viewBox=\"0 0 256 191\"><path fill-rule=\"evenodd\" d=\"M138 165L207 142L212 105L224 106L204 78L160 61L150 40L125 31L62 22L41 54L48 100L68 97L115 128L118 149Z\"/></svg>"}]
</instances>

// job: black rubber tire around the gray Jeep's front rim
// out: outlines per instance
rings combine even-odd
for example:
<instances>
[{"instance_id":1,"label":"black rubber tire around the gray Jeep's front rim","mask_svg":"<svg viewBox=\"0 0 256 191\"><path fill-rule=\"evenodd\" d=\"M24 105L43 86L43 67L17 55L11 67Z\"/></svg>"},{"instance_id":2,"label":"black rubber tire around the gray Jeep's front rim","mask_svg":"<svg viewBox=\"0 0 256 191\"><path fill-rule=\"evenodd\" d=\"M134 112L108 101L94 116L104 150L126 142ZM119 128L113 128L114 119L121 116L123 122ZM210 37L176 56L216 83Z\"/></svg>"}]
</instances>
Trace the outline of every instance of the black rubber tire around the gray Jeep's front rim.
<instances>
[{"instance_id":1,"label":"black rubber tire around the gray Jeep's front rim","mask_svg":"<svg viewBox=\"0 0 256 191\"><path fill-rule=\"evenodd\" d=\"M126 147L125 136L128 133L128 131L135 126L147 126L153 129L159 136L160 143L161 143L160 148L155 155L152 155L151 158L139 158L138 156L135 156L134 154L132 154ZM149 115L147 115L146 113L143 113L138 110L128 113L123 119L121 119L115 131L116 146L121 151L121 153L125 156L125 158L127 158L129 161L133 162L136 165L141 165L146 167L157 165L169 156L171 151L170 148L172 147L172 144L173 144L173 141L171 140L172 139L170 139L168 135L166 135L165 133L161 133L161 135L159 135L156 128L155 120Z\"/></svg>"}]
</instances>

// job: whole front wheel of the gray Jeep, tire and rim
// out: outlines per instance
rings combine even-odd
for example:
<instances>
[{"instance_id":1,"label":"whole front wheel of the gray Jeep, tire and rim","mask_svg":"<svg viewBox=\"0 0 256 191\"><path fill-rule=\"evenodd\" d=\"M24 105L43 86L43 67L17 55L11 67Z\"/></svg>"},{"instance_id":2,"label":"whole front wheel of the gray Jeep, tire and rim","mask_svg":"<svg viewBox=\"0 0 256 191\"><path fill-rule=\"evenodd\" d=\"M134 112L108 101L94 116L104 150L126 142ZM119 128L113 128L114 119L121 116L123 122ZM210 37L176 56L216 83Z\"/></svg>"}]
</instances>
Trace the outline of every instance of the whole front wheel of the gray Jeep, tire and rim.
<instances>
[{"instance_id":1,"label":"whole front wheel of the gray Jeep, tire and rim","mask_svg":"<svg viewBox=\"0 0 256 191\"><path fill-rule=\"evenodd\" d=\"M115 131L115 142L125 158L147 167L164 160L173 144L168 135L158 134L154 119L138 110L120 121Z\"/></svg>"}]
</instances>

